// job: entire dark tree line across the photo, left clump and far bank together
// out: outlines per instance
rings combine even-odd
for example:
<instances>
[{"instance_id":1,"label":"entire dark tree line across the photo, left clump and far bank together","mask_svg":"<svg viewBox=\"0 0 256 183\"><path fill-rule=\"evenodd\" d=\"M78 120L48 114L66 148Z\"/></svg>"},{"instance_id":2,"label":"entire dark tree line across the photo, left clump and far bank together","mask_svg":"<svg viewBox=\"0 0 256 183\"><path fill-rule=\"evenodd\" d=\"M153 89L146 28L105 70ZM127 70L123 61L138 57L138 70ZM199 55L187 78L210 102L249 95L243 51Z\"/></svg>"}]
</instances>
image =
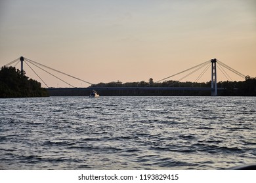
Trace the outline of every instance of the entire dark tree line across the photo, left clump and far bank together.
<instances>
[{"instance_id":1,"label":"entire dark tree line across the photo, left clump and far bank together","mask_svg":"<svg viewBox=\"0 0 256 183\"><path fill-rule=\"evenodd\" d=\"M211 88L209 82L179 82L175 80L166 80L163 82L154 82L152 78L148 82L100 82L93 84L89 88L115 88L130 87L134 90L99 90L100 95L118 96L118 95L211 95L210 90L143 90L141 87L179 87L179 88ZM140 88L140 89L138 89ZM218 82L217 88L224 88L218 91L218 95L223 96L256 96L256 77L245 76L244 81L224 81ZM2 67L0 70L0 97L46 97L49 95L89 95L88 90L70 90L58 89L47 90L41 88L41 83L28 78L25 71L20 71L15 67Z\"/></svg>"}]
</instances>

